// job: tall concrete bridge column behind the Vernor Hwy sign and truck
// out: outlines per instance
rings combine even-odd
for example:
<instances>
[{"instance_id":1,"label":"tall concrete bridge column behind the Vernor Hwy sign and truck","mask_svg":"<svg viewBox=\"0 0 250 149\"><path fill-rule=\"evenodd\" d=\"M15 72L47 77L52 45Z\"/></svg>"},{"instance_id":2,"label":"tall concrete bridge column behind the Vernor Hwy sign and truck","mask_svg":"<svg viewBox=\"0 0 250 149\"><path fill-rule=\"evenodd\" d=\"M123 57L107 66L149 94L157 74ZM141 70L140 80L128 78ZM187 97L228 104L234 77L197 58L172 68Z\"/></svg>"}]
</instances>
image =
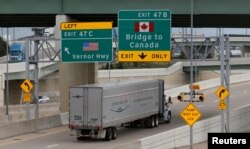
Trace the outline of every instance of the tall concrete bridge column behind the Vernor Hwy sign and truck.
<instances>
[{"instance_id":1,"label":"tall concrete bridge column behind the Vernor Hwy sign and truck","mask_svg":"<svg viewBox=\"0 0 250 149\"><path fill-rule=\"evenodd\" d=\"M72 21L66 15L56 16L55 38L61 39L60 24ZM56 48L61 42L56 42ZM92 84L97 82L97 64L94 63L61 63L59 66L59 85L61 112L69 110L69 87L73 85Z\"/></svg>"}]
</instances>

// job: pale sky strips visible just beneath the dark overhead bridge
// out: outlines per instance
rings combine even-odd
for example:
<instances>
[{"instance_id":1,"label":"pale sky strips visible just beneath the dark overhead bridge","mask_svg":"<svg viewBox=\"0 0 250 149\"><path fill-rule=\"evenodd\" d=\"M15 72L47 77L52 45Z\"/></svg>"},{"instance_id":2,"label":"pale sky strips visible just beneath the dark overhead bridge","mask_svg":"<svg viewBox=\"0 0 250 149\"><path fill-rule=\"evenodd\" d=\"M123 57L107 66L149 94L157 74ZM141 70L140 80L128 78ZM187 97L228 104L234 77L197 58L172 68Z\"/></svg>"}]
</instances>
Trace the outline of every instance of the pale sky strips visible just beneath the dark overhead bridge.
<instances>
[{"instance_id":1,"label":"pale sky strips visible just beneath the dark overhead bridge","mask_svg":"<svg viewBox=\"0 0 250 149\"><path fill-rule=\"evenodd\" d=\"M7 32L6 28L0 28L0 36L3 36L4 39L6 38ZM181 33L183 28L172 28L172 34ZM242 35L250 35L250 29L246 28L223 28L221 29L222 34L242 34ZM190 28L187 28L186 31L190 34ZM16 28L9 28L9 40L31 36L33 35L32 28L28 27L16 27ZM218 35L218 28L194 28L193 35L205 35L206 37L216 36Z\"/></svg>"}]
</instances>

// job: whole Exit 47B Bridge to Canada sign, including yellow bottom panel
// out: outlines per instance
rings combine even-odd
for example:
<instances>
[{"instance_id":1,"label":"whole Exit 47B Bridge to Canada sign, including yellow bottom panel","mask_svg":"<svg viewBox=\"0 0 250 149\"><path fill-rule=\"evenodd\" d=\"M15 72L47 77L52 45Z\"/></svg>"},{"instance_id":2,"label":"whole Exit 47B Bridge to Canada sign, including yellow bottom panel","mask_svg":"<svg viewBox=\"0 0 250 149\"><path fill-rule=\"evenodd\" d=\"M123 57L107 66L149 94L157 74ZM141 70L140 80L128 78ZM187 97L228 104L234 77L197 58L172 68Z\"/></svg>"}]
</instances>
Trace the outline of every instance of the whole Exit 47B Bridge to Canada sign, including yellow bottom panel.
<instances>
[{"instance_id":1,"label":"whole Exit 47B Bridge to Canada sign, including yellow bottom panel","mask_svg":"<svg viewBox=\"0 0 250 149\"><path fill-rule=\"evenodd\" d=\"M169 10L119 11L120 62L169 62L171 12Z\"/></svg>"}]
</instances>

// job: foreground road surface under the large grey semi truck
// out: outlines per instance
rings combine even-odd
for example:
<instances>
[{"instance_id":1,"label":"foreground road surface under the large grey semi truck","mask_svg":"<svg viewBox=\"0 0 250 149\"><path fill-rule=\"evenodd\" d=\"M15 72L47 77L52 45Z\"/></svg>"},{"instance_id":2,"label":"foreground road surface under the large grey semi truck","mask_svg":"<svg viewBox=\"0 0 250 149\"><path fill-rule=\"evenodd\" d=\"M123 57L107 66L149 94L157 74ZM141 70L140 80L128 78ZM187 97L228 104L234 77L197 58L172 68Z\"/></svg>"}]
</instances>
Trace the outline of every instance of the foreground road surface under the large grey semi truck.
<instances>
[{"instance_id":1,"label":"foreground road surface under the large grey semi truck","mask_svg":"<svg viewBox=\"0 0 250 149\"><path fill-rule=\"evenodd\" d=\"M205 101L203 103L196 103L198 109L202 113L201 119L206 119L220 114L218 110L218 97L215 95L215 91L218 87L202 91L205 94ZM249 99L250 82L243 82L231 85L230 109L234 110L242 106L250 104ZM186 96L185 98L189 98ZM103 140L85 139L77 141L75 137L70 136L69 129L64 126L60 128L53 128L51 130L43 130L38 133L32 133L24 136L17 136L14 138L8 138L0 141L1 149L82 149L82 148L94 148L94 149L110 149L122 144L137 140L140 138L148 137L163 131L167 131L173 128L177 128L186 123L179 116L179 113L187 105L186 102L180 103L176 99L173 99L172 105L172 121L170 124L162 124L154 129L145 128L120 128L118 130L117 140L106 142Z\"/></svg>"}]
</instances>

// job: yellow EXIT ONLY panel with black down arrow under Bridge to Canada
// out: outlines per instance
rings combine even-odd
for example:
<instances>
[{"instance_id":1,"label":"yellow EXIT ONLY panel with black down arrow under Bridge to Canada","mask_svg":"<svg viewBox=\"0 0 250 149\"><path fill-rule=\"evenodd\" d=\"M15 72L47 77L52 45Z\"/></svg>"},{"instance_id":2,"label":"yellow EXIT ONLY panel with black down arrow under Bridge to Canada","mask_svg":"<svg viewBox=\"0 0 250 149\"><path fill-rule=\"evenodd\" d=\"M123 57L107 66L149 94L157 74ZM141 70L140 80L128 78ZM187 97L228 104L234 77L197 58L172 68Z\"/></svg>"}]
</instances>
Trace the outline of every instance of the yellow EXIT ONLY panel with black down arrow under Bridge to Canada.
<instances>
[{"instance_id":1,"label":"yellow EXIT ONLY panel with black down arrow under Bridge to Canada","mask_svg":"<svg viewBox=\"0 0 250 149\"><path fill-rule=\"evenodd\" d=\"M119 62L169 62L170 51L118 51Z\"/></svg>"}]
</instances>

